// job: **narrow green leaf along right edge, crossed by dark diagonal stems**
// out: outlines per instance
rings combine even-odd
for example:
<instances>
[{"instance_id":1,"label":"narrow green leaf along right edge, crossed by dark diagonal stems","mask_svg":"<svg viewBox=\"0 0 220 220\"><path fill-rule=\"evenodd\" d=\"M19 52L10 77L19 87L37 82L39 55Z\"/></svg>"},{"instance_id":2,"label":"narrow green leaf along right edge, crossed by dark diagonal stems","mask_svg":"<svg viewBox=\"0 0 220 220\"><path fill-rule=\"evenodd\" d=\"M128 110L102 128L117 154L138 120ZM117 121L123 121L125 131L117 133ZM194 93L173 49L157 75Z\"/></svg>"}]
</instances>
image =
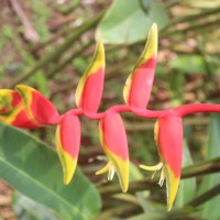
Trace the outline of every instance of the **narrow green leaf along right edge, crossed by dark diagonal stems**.
<instances>
[{"instance_id":1,"label":"narrow green leaf along right edge, crossed by dark diagonal stems","mask_svg":"<svg viewBox=\"0 0 220 220\"><path fill-rule=\"evenodd\" d=\"M211 114L211 123L208 132L208 147L207 158L213 158L220 155L220 114ZM202 183L199 187L199 195L211 189L213 186L220 183L220 174L208 175L202 178ZM219 219L219 199L220 195L212 198L208 202L204 204L199 216L204 219Z\"/></svg>"}]
</instances>

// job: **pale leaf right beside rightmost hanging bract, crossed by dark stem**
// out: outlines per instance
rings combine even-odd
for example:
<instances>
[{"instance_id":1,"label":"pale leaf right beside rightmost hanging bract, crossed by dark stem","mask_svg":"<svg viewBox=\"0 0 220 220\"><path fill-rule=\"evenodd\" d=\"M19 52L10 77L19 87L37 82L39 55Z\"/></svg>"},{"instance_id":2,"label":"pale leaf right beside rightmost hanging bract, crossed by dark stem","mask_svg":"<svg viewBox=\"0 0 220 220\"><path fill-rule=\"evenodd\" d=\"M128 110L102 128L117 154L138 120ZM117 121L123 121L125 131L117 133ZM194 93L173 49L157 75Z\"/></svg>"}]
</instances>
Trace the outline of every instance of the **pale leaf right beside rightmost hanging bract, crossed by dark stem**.
<instances>
[{"instance_id":1,"label":"pale leaf right beside rightmost hanging bract, crossed by dark stem","mask_svg":"<svg viewBox=\"0 0 220 220\"><path fill-rule=\"evenodd\" d=\"M183 148L183 167L191 164L193 164L193 158L185 140ZM195 193L196 193L196 178L194 177L188 179L182 179L175 205L177 207L183 207L185 204L187 204L195 197Z\"/></svg>"}]
</instances>

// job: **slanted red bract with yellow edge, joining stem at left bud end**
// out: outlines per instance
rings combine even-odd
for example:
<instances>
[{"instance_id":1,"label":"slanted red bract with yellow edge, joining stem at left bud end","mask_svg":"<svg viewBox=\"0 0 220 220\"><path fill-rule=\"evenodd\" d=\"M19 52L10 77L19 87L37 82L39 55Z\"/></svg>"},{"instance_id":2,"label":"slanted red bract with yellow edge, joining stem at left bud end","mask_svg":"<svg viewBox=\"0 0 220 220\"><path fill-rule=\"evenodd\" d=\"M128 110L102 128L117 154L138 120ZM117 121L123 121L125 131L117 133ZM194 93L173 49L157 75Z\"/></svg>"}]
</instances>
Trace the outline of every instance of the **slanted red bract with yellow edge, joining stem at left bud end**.
<instances>
[{"instance_id":1,"label":"slanted red bract with yellow edge, joining stem at left bud end","mask_svg":"<svg viewBox=\"0 0 220 220\"><path fill-rule=\"evenodd\" d=\"M25 85L15 86L15 90L20 94L26 114L33 124L44 127L58 122L59 114L56 108L40 91Z\"/></svg>"}]
</instances>

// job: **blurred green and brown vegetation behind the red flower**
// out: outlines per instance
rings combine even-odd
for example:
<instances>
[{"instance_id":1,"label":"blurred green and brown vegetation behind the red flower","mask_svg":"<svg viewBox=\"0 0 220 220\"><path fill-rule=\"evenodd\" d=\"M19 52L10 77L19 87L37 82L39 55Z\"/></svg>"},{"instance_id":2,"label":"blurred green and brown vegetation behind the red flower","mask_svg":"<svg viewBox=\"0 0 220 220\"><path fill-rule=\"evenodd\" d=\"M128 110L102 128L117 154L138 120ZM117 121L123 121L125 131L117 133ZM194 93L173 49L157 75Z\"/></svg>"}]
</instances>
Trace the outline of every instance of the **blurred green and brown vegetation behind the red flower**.
<instances>
[{"instance_id":1,"label":"blurred green and brown vegetation behind the red flower","mask_svg":"<svg viewBox=\"0 0 220 220\"><path fill-rule=\"evenodd\" d=\"M148 109L220 102L219 0L8 0L0 11L1 88L26 84L65 112L75 106L76 86L101 37L107 72L100 111L123 103L124 81L156 22L160 52ZM117 178L95 176L105 164L97 122L81 118L80 169L70 186L63 185L53 151L55 128L23 132L1 124L0 218L220 219L220 114L184 120L183 180L170 212L165 187L136 168L158 161L154 121L123 119L132 167L128 194Z\"/></svg>"}]
</instances>

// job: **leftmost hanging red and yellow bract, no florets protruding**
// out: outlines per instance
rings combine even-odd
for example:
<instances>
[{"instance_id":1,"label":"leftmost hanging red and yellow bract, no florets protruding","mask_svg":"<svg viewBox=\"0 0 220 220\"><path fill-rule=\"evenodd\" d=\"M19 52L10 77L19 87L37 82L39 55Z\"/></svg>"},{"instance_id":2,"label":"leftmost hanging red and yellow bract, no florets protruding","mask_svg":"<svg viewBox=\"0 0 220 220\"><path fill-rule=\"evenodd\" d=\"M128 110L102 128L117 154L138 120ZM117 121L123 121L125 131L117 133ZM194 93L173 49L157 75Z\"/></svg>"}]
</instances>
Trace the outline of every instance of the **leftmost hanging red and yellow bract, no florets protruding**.
<instances>
[{"instance_id":1,"label":"leftmost hanging red and yellow bract, no florets protruding","mask_svg":"<svg viewBox=\"0 0 220 220\"><path fill-rule=\"evenodd\" d=\"M62 162L64 183L68 184L75 173L80 145L80 122L77 116L64 114L56 130L56 148Z\"/></svg>"}]
</instances>

